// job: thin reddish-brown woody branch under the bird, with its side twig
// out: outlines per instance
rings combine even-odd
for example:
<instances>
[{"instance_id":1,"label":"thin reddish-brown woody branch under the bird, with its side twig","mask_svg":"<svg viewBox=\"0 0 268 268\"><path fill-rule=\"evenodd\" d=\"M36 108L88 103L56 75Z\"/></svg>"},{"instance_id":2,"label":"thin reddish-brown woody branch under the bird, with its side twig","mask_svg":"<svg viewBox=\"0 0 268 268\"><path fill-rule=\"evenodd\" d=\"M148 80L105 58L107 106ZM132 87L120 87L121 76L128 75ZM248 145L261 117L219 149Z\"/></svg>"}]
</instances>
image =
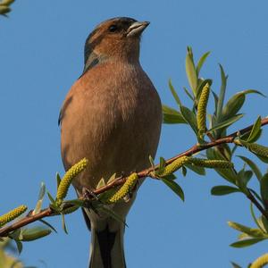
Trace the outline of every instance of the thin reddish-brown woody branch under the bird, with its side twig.
<instances>
[{"instance_id":1,"label":"thin reddish-brown woody branch under the bird, with its side twig","mask_svg":"<svg viewBox=\"0 0 268 268\"><path fill-rule=\"evenodd\" d=\"M267 125L268 118L262 119L261 124L262 124L262 126ZM211 147L217 147L217 146L222 145L222 144L232 143L235 138L237 138L239 135L242 135L242 134L249 132L250 130L252 130L252 128L253 128L253 125L250 125L247 128L235 131L226 137L219 138L219 139L216 139L214 141L211 141L211 142L208 142L208 143L205 143L202 145L197 144L193 147L190 147L187 151L180 153L180 155L176 155L176 156L168 159L166 161L166 163L167 164L172 163L173 161L175 161L176 159L178 159L184 155L190 156L190 155L197 154L198 152L204 151L204 150L211 148ZM153 172L158 167L159 167L159 165L156 165L155 168L151 167L151 168L145 169L141 172L138 172L138 179L142 179L145 177L153 178L149 174L150 174L150 172ZM156 179L156 178L153 178L153 179ZM105 191L107 191L111 188L121 186L126 180L127 180L127 177L117 178L117 179L113 180L111 183L108 183L107 185L105 185L104 187L97 188L97 189L93 190L91 198L94 199L94 196L96 196L96 195L104 193ZM249 198L255 204L255 206L261 211L262 214L264 214L264 216L268 220L268 214L264 211L263 207L257 202L257 200L255 200L255 197L253 197L252 195L249 195L249 196L247 196L247 198ZM85 197L81 197L80 199L83 201L88 201L88 200L85 200ZM71 204L64 204L64 209L69 208L71 206L72 206ZM0 229L0 237L6 237L13 230L18 230L21 227L26 226L31 222L37 222L38 220L41 220L41 219L46 218L46 217L54 216L55 214L57 214L57 213L51 207L48 207L48 208L42 210L38 214L32 214L32 211L31 211L31 212L29 212L29 214L27 216L25 216L24 218L22 218L18 222L14 222L13 224L11 224L9 226L5 226L5 227L1 228Z\"/></svg>"}]
</instances>

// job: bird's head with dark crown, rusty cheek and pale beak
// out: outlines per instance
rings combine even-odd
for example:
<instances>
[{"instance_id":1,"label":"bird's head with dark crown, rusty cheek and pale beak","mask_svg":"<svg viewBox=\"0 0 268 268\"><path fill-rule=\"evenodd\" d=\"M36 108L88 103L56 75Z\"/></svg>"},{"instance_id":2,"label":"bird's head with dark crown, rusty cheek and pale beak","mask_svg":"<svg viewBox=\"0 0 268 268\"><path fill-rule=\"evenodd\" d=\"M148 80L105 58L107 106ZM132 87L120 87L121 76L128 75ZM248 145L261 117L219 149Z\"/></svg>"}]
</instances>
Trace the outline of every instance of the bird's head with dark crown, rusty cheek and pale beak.
<instances>
[{"instance_id":1,"label":"bird's head with dark crown, rusty cheek and pale beak","mask_svg":"<svg viewBox=\"0 0 268 268\"><path fill-rule=\"evenodd\" d=\"M141 33L148 21L119 17L96 26L85 44L85 69L111 57L129 62L138 61Z\"/></svg>"}]
</instances>

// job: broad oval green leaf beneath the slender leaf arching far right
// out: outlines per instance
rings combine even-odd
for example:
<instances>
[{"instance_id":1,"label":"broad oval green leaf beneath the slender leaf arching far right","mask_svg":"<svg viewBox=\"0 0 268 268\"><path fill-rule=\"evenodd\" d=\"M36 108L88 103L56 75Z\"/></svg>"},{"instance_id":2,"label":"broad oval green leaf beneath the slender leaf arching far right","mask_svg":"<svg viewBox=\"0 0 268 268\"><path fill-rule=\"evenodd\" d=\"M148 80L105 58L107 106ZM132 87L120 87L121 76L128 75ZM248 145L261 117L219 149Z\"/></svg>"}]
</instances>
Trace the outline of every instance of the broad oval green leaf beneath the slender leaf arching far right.
<instances>
[{"instance_id":1,"label":"broad oval green leaf beneath the slender leaf arching far right","mask_svg":"<svg viewBox=\"0 0 268 268\"><path fill-rule=\"evenodd\" d=\"M245 103L245 94L237 93L232 96L222 109L222 121L228 120L236 115Z\"/></svg>"}]
</instances>

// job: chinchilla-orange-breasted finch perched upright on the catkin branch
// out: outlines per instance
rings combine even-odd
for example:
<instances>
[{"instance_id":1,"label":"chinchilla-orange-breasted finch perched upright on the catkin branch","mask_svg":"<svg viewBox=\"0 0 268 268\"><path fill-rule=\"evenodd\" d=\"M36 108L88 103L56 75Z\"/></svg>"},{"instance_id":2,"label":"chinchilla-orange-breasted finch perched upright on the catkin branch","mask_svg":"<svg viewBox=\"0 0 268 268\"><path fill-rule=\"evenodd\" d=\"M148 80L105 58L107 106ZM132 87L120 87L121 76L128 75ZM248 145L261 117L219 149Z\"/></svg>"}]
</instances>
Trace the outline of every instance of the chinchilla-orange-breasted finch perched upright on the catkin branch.
<instances>
[{"instance_id":1,"label":"chinchilla-orange-breasted finch perched upright on the catkin branch","mask_svg":"<svg viewBox=\"0 0 268 268\"><path fill-rule=\"evenodd\" d=\"M86 157L88 165L72 181L79 197L114 173L130 174L150 166L158 147L162 105L153 82L139 63L142 32L148 21L116 17L88 35L84 69L65 97L59 116L61 154L67 171ZM139 180L138 187L142 180ZM125 221L129 200L109 205ZM125 225L111 215L83 208L91 230L89 268L125 268Z\"/></svg>"}]
</instances>

